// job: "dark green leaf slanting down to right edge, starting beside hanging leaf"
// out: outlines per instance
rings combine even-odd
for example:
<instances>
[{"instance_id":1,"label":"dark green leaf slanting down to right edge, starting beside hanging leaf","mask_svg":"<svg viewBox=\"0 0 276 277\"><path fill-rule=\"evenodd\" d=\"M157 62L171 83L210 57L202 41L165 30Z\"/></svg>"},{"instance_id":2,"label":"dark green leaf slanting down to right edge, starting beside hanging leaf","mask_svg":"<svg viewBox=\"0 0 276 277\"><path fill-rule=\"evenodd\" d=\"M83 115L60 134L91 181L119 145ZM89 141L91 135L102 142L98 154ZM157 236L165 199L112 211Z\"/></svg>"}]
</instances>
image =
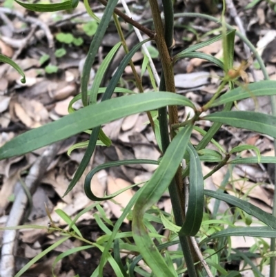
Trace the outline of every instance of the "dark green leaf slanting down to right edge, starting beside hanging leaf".
<instances>
[{"instance_id":1,"label":"dark green leaf slanting down to right edge, starting beside hanging leaf","mask_svg":"<svg viewBox=\"0 0 276 277\"><path fill-rule=\"evenodd\" d=\"M204 190L204 193L205 195L222 200L224 202L227 202L228 204L238 207L239 209L242 209L249 215L255 216L255 218L261 220L269 227L276 229L275 217L271 216L269 213L266 213L266 211L259 209L255 205L250 204L250 202L236 198L233 195L229 195L226 193L217 193L216 191L209 191L206 189Z\"/></svg>"}]
</instances>

